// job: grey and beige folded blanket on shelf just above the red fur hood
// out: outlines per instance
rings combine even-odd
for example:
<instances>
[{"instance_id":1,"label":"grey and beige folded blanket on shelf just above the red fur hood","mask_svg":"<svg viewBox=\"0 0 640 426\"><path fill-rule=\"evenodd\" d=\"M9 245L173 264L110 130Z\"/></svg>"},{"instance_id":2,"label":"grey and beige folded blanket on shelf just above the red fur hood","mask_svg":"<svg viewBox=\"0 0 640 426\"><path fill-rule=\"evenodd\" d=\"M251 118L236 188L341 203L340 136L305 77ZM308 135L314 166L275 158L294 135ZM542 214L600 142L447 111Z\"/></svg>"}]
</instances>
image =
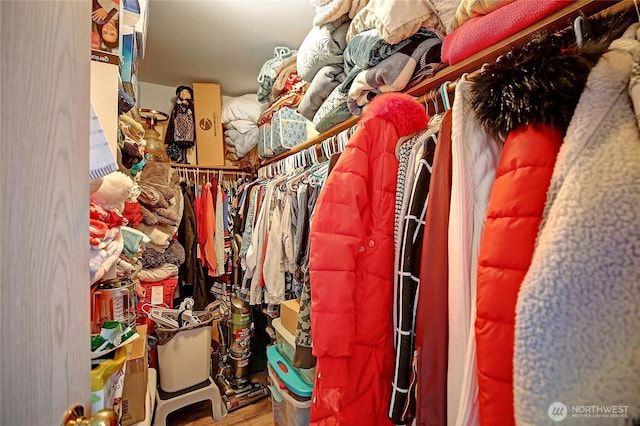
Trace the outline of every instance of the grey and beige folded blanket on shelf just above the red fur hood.
<instances>
[{"instance_id":1,"label":"grey and beige folded blanket on shelf just above the red fur hood","mask_svg":"<svg viewBox=\"0 0 640 426\"><path fill-rule=\"evenodd\" d=\"M360 72L349 88L349 111L354 115L360 115L362 108L376 95L400 92L410 81L416 83L442 69L441 45L442 41L437 37L423 39L417 44L414 41L378 65ZM341 88L342 85L338 87Z\"/></svg>"}]
</instances>

